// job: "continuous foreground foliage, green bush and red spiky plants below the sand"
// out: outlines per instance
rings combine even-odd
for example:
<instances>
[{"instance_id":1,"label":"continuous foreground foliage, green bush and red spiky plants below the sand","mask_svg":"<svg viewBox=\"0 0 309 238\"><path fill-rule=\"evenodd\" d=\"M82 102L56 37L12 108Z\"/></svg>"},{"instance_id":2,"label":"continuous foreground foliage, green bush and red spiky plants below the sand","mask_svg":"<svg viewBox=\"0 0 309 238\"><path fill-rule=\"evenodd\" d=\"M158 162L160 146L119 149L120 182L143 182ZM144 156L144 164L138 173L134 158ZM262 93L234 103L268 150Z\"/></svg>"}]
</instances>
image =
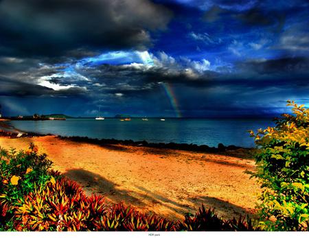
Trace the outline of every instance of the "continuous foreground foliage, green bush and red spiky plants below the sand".
<instances>
[{"instance_id":1,"label":"continuous foreground foliage, green bush and red spiky plants below the sand","mask_svg":"<svg viewBox=\"0 0 309 238\"><path fill-rule=\"evenodd\" d=\"M52 162L37 152L33 144L21 152L0 149L0 230L255 230L250 221L225 221L204 206L181 222L108 205L49 170Z\"/></svg>"}]
</instances>

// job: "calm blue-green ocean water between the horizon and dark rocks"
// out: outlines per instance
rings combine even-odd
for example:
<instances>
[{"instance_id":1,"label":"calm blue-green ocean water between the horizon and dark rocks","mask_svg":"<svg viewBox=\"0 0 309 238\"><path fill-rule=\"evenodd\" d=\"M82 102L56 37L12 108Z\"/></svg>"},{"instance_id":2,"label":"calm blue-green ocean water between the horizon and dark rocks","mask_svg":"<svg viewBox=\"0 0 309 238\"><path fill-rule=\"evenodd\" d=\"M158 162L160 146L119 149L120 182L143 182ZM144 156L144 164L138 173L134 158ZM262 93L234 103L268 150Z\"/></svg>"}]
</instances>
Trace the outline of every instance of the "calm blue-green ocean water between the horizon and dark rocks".
<instances>
[{"instance_id":1,"label":"calm blue-green ocean water between the horizon and dark rocks","mask_svg":"<svg viewBox=\"0 0 309 238\"><path fill-rule=\"evenodd\" d=\"M273 126L271 119L67 119L66 121L11 121L20 130L98 139L132 139L152 143L193 143L254 147L248 130Z\"/></svg>"}]
</instances>

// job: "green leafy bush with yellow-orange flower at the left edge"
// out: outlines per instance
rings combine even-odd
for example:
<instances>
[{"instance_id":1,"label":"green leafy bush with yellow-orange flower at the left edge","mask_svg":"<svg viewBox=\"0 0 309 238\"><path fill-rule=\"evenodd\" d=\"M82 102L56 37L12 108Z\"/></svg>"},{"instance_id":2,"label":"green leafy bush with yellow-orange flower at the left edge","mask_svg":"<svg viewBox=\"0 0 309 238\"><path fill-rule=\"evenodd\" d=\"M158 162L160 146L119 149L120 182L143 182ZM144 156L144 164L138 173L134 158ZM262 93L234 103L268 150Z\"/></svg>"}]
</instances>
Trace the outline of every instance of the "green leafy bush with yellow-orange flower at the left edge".
<instances>
[{"instance_id":1,"label":"green leafy bush with yellow-orange flower at the left edge","mask_svg":"<svg viewBox=\"0 0 309 238\"><path fill-rule=\"evenodd\" d=\"M23 203L24 195L52 177L47 173L52 161L37 152L38 147L32 143L27 151L0 148L0 230L7 223L12 225L14 207Z\"/></svg>"}]
</instances>

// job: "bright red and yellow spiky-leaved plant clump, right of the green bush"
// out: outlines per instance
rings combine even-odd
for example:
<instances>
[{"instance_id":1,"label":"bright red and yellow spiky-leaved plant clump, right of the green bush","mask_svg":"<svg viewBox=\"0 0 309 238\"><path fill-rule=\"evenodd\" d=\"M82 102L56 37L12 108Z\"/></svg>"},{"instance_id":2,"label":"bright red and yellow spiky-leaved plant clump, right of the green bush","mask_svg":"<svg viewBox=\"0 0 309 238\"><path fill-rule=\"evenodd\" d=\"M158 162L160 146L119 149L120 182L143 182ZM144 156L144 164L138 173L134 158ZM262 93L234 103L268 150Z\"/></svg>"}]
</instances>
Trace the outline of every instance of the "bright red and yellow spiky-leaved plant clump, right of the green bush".
<instances>
[{"instance_id":1,"label":"bright red and yellow spiky-leaved plant clump, right of the green bush","mask_svg":"<svg viewBox=\"0 0 309 238\"><path fill-rule=\"evenodd\" d=\"M16 230L93 230L105 203L102 196L87 197L76 182L61 178L29 193L15 213Z\"/></svg>"}]
</instances>

